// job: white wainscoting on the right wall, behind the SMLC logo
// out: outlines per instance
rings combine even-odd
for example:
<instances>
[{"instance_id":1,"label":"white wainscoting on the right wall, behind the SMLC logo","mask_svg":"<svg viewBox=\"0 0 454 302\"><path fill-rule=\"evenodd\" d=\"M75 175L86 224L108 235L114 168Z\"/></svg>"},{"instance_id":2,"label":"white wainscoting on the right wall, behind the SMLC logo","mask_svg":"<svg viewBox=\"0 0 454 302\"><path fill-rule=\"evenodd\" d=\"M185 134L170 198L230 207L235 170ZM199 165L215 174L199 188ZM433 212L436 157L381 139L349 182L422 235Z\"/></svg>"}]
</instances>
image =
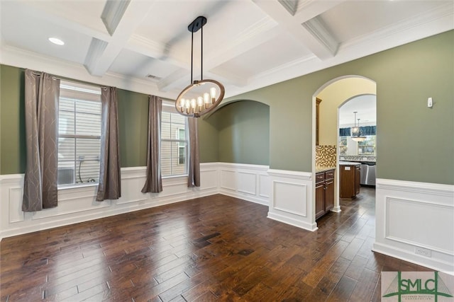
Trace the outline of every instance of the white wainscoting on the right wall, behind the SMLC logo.
<instances>
[{"instance_id":1,"label":"white wainscoting on the right wall, behind the SMLC logo","mask_svg":"<svg viewBox=\"0 0 454 302\"><path fill-rule=\"evenodd\" d=\"M377 179L376 189L373 250L453 274L454 186Z\"/></svg>"}]
</instances>

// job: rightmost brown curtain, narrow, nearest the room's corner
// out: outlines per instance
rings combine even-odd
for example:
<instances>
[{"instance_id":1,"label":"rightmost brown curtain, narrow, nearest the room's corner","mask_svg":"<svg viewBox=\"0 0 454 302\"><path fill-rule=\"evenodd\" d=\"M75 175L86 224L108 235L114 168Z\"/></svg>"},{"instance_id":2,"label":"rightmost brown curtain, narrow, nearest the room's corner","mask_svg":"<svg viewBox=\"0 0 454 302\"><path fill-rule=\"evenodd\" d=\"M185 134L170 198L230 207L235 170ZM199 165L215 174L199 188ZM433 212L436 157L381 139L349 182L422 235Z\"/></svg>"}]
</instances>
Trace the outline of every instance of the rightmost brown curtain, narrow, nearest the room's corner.
<instances>
[{"instance_id":1,"label":"rightmost brown curtain, narrow, nearest the room's corner","mask_svg":"<svg viewBox=\"0 0 454 302\"><path fill-rule=\"evenodd\" d=\"M188 117L189 127L189 171L188 187L200 187L199 131L196 117Z\"/></svg>"}]
</instances>

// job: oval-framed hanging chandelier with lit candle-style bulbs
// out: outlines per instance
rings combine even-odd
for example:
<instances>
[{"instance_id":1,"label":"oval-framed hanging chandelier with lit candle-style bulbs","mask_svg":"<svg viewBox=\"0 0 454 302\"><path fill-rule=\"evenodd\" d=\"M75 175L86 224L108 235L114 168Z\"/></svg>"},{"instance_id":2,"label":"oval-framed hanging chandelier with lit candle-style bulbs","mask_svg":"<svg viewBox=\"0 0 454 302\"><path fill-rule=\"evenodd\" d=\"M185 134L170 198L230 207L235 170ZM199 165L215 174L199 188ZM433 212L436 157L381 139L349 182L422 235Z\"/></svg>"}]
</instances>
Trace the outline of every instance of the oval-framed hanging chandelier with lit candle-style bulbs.
<instances>
[{"instance_id":1,"label":"oval-framed hanging chandelier with lit candle-style bulbs","mask_svg":"<svg viewBox=\"0 0 454 302\"><path fill-rule=\"evenodd\" d=\"M214 110L224 97L225 88L218 81L204 80L203 78L203 53L204 53L204 25L206 18L197 17L187 29L191 32L191 83L179 93L175 101L177 111L187 117L200 117ZM194 57L194 33L201 29L200 40L200 81L192 81L192 65Z\"/></svg>"}]
</instances>

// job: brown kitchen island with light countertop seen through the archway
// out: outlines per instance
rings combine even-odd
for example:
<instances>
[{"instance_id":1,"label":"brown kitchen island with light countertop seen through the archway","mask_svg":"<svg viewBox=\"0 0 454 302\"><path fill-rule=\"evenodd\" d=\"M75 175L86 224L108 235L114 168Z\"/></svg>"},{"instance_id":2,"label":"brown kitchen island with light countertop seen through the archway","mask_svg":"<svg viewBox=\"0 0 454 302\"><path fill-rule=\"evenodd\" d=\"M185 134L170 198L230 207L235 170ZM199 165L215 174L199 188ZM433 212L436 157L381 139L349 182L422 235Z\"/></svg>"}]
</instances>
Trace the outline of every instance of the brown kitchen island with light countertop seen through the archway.
<instances>
[{"instance_id":1,"label":"brown kitchen island with light countertop seen through the archway","mask_svg":"<svg viewBox=\"0 0 454 302\"><path fill-rule=\"evenodd\" d=\"M340 162L341 189L339 197L343 199L353 199L360 194L361 168L360 163Z\"/></svg>"}]
</instances>

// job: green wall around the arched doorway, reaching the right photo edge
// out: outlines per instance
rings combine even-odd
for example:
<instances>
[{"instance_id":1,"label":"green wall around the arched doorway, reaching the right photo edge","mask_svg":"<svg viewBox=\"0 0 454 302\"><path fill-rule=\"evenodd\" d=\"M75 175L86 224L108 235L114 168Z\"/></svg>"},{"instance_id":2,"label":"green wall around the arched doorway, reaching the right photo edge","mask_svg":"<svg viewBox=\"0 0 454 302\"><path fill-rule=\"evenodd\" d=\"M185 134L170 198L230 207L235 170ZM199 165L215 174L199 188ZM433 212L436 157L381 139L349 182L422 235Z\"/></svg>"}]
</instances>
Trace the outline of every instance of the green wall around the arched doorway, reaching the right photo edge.
<instances>
[{"instance_id":1,"label":"green wall around the arched doorway, reaching the right photo edge","mask_svg":"<svg viewBox=\"0 0 454 302\"><path fill-rule=\"evenodd\" d=\"M270 105L270 168L310 172L313 95L346 75L377 83L377 178L453 185L453 30L224 102Z\"/></svg>"}]
</instances>

